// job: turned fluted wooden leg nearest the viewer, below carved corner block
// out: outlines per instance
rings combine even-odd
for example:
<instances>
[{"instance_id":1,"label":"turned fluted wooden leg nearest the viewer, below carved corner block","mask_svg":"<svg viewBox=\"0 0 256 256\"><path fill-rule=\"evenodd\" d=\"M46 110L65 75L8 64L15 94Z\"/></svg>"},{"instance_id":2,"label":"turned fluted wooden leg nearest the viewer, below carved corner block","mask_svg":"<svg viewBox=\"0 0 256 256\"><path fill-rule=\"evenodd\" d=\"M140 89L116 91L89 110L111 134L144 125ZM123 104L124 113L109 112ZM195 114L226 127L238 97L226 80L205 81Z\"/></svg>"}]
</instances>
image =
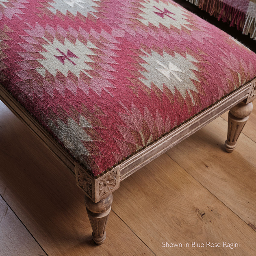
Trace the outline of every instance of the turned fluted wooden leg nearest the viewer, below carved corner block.
<instances>
[{"instance_id":1,"label":"turned fluted wooden leg nearest the viewer, below carved corner block","mask_svg":"<svg viewBox=\"0 0 256 256\"><path fill-rule=\"evenodd\" d=\"M98 203L94 203L85 195L85 205L87 214L93 230L93 241L97 245L101 245L106 239L106 223L111 211L111 204L113 202L113 195L110 194L107 198Z\"/></svg>"}]
</instances>

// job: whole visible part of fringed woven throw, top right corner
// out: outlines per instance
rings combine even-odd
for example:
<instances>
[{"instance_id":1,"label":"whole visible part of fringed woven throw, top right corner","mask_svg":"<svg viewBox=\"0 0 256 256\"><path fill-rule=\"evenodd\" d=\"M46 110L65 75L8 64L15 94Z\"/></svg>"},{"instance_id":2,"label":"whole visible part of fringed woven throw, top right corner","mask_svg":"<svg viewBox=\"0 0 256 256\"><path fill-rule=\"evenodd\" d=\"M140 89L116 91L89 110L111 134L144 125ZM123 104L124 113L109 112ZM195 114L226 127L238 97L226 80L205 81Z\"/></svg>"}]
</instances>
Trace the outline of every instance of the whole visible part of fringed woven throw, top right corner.
<instances>
[{"instance_id":1,"label":"whole visible part of fringed woven throw, top right corner","mask_svg":"<svg viewBox=\"0 0 256 256\"><path fill-rule=\"evenodd\" d=\"M187 0L256 40L256 0Z\"/></svg>"}]
</instances>

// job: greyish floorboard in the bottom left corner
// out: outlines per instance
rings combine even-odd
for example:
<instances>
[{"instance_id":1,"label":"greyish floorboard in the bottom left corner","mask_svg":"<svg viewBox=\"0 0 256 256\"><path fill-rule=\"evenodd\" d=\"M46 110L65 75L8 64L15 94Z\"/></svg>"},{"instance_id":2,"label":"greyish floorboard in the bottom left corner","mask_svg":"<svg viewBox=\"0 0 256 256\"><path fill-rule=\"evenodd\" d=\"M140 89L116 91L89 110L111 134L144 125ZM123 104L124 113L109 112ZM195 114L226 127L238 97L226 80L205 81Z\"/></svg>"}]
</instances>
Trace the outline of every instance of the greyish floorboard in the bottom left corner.
<instances>
[{"instance_id":1,"label":"greyish floorboard in the bottom left corner","mask_svg":"<svg viewBox=\"0 0 256 256\"><path fill-rule=\"evenodd\" d=\"M33 236L22 225L0 196L0 255L46 256Z\"/></svg>"}]
</instances>

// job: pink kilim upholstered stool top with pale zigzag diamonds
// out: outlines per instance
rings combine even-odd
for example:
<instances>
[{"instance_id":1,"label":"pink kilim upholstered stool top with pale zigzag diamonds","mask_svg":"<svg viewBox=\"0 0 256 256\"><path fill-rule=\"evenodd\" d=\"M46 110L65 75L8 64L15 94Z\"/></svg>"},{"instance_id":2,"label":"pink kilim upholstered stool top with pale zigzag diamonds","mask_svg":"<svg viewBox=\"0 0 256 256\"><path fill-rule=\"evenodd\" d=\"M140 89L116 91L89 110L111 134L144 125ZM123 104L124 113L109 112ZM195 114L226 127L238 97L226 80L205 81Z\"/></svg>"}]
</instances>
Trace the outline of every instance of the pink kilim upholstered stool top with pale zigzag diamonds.
<instances>
[{"instance_id":1,"label":"pink kilim upholstered stool top with pale zigzag diamonds","mask_svg":"<svg viewBox=\"0 0 256 256\"><path fill-rule=\"evenodd\" d=\"M95 176L256 76L171 0L4 0L0 81Z\"/></svg>"}]
</instances>

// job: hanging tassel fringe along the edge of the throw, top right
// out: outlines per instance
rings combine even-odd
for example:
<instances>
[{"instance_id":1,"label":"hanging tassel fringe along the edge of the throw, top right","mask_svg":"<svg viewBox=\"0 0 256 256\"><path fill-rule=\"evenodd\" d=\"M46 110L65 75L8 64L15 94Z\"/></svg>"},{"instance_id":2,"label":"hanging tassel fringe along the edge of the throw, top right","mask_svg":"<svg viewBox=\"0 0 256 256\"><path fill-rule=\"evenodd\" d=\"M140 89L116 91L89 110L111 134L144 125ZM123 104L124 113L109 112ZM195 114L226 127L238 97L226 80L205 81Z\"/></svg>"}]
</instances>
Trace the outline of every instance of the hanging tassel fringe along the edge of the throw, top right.
<instances>
[{"instance_id":1,"label":"hanging tassel fringe along the edge of the throw, top right","mask_svg":"<svg viewBox=\"0 0 256 256\"><path fill-rule=\"evenodd\" d=\"M198 6L201 10L208 12L218 20L229 22L230 27L236 26L243 34L256 40L256 18L223 3L221 0L187 0Z\"/></svg>"}]
</instances>

